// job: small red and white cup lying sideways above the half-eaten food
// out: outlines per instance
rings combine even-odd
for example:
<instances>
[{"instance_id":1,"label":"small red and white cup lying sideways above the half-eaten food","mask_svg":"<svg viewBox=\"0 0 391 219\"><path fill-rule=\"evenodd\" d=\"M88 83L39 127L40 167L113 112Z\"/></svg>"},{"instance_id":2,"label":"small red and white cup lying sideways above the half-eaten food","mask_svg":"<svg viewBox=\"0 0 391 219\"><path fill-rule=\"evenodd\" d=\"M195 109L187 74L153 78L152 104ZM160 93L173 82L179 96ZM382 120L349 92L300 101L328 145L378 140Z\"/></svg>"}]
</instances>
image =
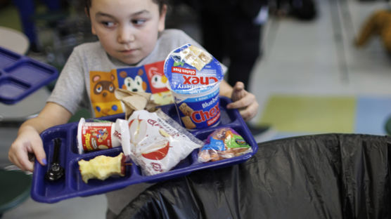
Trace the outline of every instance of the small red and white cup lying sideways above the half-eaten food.
<instances>
[{"instance_id":1,"label":"small red and white cup lying sideways above the half-eaten food","mask_svg":"<svg viewBox=\"0 0 391 219\"><path fill-rule=\"evenodd\" d=\"M77 149L79 154L120 146L115 137L115 124L111 121L89 121L81 118L77 126Z\"/></svg>"}]
</instances>

